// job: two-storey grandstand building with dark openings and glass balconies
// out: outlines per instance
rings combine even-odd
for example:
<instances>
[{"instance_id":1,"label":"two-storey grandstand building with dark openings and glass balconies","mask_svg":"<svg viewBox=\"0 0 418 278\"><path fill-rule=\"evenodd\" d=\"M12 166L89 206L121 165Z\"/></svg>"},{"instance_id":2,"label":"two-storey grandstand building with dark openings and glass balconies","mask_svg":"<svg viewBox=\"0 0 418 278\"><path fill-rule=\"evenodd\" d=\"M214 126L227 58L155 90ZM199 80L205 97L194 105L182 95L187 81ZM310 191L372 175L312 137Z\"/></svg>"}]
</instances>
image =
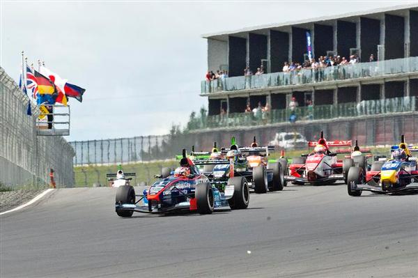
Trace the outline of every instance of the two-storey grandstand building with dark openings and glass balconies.
<instances>
[{"instance_id":1,"label":"two-storey grandstand building with dark openings and glass balconies","mask_svg":"<svg viewBox=\"0 0 418 278\"><path fill-rule=\"evenodd\" d=\"M204 35L208 70L229 77L201 82L208 98L203 128L288 124L329 118L417 117L418 5L270 24ZM285 62L340 56L357 63L283 72ZM369 61L373 54L374 61ZM263 65L264 73L254 75ZM245 68L253 75L244 75ZM296 109L289 109L292 98ZM268 107L259 114L244 113ZM248 114L251 114L249 116ZM203 121L201 121L203 123ZM196 125L196 130L202 128ZM415 122L414 122L415 124Z\"/></svg>"}]
</instances>

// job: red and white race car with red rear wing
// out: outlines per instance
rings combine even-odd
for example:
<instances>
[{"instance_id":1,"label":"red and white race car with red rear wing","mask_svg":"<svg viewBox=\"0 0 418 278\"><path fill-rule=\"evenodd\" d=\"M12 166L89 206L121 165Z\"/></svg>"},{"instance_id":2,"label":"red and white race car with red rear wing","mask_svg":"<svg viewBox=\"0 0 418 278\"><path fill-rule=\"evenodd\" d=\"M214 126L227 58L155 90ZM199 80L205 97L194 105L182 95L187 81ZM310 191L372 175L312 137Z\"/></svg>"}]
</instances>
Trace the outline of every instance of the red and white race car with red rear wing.
<instances>
[{"instance_id":1,"label":"red and white race car with red rear wing","mask_svg":"<svg viewBox=\"0 0 418 278\"><path fill-rule=\"evenodd\" d=\"M284 180L297 185L322 185L344 180L343 161L338 160L338 153L350 153L350 150L334 150L330 147L351 146L351 141L326 141L324 133L320 132L318 142L309 141L309 148L314 151L309 155L293 158L288 167L288 176ZM310 149L309 149L310 152Z\"/></svg>"}]
</instances>

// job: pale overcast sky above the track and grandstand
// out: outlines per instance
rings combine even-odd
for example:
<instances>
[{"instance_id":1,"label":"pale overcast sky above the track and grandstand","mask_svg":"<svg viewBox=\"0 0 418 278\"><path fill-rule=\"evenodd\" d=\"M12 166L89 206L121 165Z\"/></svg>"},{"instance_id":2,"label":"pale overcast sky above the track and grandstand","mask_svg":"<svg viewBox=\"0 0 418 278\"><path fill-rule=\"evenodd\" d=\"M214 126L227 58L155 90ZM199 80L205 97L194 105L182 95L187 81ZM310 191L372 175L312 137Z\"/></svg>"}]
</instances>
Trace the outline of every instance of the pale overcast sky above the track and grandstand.
<instances>
[{"instance_id":1,"label":"pale overcast sky above the track and grandstand","mask_svg":"<svg viewBox=\"0 0 418 278\"><path fill-rule=\"evenodd\" d=\"M202 34L408 3L0 0L0 65L18 80L24 50L86 88L68 141L167 134L208 106Z\"/></svg>"}]
</instances>

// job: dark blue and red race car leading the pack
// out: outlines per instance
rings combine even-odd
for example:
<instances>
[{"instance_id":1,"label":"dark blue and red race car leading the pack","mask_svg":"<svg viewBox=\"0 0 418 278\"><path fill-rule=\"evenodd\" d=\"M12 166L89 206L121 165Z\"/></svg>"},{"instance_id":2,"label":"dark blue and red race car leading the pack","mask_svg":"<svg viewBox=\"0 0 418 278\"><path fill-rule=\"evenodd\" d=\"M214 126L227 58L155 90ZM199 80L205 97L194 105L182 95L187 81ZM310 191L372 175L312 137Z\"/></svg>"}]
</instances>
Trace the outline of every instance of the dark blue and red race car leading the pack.
<instances>
[{"instance_id":1,"label":"dark blue and red race car leading the pack","mask_svg":"<svg viewBox=\"0 0 418 278\"><path fill-rule=\"evenodd\" d=\"M176 210L210 214L225 206L236 210L249 205L249 187L245 178L229 178L226 186L221 189L212 186L210 180L199 173L185 150L180 167L166 178L160 175L157 177L160 180L144 190L142 195L136 195L134 187L130 185L119 187L116 192L116 214L131 217L134 212L161 214Z\"/></svg>"}]
</instances>

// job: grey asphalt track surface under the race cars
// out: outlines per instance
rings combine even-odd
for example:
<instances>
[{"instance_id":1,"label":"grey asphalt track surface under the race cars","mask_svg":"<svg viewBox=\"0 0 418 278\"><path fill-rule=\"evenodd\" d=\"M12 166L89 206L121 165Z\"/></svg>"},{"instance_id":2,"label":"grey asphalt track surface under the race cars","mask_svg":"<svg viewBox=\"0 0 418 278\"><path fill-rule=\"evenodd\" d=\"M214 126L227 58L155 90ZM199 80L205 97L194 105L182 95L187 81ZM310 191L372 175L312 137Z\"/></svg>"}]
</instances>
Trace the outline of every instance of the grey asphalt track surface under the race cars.
<instances>
[{"instance_id":1,"label":"grey asphalt track surface under the race cars","mask_svg":"<svg viewBox=\"0 0 418 278\"><path fill-rule=\"evenodd\" d=\"M111 188L0 217L0 277L418 277L418 195L344 185L251 194L247 210L116 216Z\"/></svg>"}]
</instances>

